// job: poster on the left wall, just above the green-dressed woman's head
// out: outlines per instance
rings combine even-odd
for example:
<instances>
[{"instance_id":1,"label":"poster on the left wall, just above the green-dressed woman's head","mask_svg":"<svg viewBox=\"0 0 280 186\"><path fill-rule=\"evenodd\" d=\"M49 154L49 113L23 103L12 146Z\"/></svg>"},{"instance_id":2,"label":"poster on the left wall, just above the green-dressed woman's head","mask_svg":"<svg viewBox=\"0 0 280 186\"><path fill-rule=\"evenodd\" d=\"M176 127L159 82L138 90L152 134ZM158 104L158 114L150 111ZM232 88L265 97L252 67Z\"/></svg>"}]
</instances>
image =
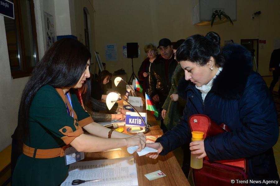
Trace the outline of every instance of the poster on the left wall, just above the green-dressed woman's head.
<instances>
[{"instance_id":1,"label":"poster on the left wall, just above the green-dressed woman's head","mask_svg":"<svg viewBox=\"0 0 280 186\"><path fill-rule=\"evenodd\" d=\"M46 49L48 50L56 41L56 32L54 27L54 16L44 12L45 20L45 36L46 36Z\"/></svg>"}]
</instances>

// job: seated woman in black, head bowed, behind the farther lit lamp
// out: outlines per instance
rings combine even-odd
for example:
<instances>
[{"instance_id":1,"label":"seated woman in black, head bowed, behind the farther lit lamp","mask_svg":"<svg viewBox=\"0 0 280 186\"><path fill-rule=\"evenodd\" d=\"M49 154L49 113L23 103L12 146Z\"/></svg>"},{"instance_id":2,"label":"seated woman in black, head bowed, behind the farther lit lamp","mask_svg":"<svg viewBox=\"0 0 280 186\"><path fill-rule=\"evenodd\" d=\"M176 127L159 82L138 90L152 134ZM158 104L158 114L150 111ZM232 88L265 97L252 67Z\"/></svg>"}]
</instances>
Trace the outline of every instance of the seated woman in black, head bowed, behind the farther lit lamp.
<instances>
[{"instance_id":1,"label":"seated woman in black, head bowed, behind the farther lit lamp","mask_svg":"<svg viewBox=\"0 0 280 186\"><path fill-rule=\"evenodd\" d=\"M105 100L107 95L104 94L104 85L109 83L112 78L112 74L108 70L103 70L98 75L98 80L92 80L91 82L91 97L96 100Z\"/></svg>"}]
</instances>

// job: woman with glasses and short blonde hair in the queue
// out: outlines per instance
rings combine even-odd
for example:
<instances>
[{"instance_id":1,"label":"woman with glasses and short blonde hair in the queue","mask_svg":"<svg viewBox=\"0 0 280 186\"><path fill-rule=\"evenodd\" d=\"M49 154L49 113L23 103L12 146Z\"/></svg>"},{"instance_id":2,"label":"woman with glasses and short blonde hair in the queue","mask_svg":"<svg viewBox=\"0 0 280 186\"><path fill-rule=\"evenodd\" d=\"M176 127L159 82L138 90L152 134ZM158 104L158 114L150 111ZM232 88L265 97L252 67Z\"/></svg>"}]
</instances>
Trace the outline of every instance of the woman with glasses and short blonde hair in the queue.
<instances>
[{"instance_id":1,"label":"woman with glasses and short blonde hair in the queue","mask_svg":"<svg viewBox=\"0 0 280 186\"><path fill-rule=\"evenodd\" d=\"M145 95L146 88L149 86L149 74L151 64L157 57L157 49L156 46L149 44L144 47L145 53L147 54L147 58L142 62L141 67L138 71L138 77L142 82L143 87L143 95Z\"/></svg>"}]
</instances>

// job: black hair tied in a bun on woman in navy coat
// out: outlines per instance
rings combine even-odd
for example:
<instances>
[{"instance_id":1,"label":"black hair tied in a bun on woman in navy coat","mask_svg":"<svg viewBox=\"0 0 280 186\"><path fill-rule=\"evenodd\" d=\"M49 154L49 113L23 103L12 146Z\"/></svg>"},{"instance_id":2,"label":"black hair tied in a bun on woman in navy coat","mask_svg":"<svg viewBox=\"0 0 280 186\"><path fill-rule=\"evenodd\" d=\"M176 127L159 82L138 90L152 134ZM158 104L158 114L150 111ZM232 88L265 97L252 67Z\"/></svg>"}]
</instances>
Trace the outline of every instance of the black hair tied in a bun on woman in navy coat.
<instances>
[{"instance_id":1,"label":"black hair tied in a bun on woman in navy coat","mask_svg":"<svg viewBox=\"0 0 280 186\"><path fill-rule=\"evenodd\" d=\"M176 51L176 60L191 61L203 66L207 64L210 57L215 60L216 67L222 67L224 58L220 46L220 36L215 32L210 32L206 37L202 35L192 35L188 37Z\"/></svg>"}]
</instances>

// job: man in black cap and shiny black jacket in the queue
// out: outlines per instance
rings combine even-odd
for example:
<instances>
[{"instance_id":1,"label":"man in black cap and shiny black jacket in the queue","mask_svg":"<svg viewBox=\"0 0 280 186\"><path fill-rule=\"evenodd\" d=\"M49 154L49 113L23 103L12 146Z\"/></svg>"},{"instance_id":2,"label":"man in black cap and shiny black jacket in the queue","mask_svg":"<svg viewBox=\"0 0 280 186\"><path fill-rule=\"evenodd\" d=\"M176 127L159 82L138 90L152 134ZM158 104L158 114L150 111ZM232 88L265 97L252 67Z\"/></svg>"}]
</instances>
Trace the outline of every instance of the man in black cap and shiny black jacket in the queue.
<instances>
[{"instance_id":1,"label":"man in black cap and shiny black jacket in the queue","mask_svg":"<svg viewBox=\"0 0 280 186\"><path fill-rule=\"evenodd\" d=\"M161 39L158 42L157 48L161 56L156 58L151 65L148 94L155 101L156 107L161 111L171 88L171 77L178 63L174 60L173 46L169 39ZM161 126L164 127L163 124ZM162 129L163 132L167 131L166 128Z\"/></svg>"}]
</instances>

